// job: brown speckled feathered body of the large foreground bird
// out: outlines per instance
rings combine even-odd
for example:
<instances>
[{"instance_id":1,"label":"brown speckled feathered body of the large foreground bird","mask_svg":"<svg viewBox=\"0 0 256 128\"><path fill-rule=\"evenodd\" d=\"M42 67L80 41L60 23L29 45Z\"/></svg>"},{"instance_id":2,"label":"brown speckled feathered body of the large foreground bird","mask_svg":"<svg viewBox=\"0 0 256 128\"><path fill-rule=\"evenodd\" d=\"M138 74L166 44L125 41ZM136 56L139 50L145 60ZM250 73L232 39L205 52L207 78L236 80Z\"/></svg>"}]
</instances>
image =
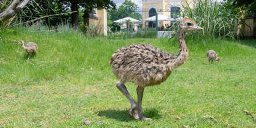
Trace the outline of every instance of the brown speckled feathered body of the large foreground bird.
<instances>
[{"instance_id":1,"label":"brown speckled feathered body of the large foreground bird","mask_svg":"<svg viewBox=\"0 0 256 128\"><path fill-rule=\"evenodd\" d=\"M139 86L157 85L171 74L177 55L171 55L148 44L122 47L111 57L113 73L122 81Z\"/></svg>"}]
</instances>

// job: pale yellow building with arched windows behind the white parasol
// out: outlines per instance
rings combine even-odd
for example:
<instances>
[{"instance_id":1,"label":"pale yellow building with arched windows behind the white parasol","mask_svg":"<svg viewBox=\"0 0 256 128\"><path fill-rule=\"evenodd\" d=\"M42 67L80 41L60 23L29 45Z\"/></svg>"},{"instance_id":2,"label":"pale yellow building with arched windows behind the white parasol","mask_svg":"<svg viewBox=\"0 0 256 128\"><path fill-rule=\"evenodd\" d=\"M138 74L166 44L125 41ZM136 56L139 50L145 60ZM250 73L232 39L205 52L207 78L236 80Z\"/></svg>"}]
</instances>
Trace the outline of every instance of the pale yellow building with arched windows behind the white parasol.
<instances>
[{"instance_id":1,"label":"pale yellow building with arched windows behind the white parasol","mask_svg":"<svg viewBox=\"0 0 256 128\"><path fill-rule=\"evenodd\" d=\"M187 6L187 3L191 3L193 0L142 0L143 8L143 28L155 27L155 22L145 22L145 19L158 15L165 15L169 18L177 18L181 15L181 9L183 5ZM189 4L190 5L190 4ZM170 25L169 21L160 21L158 27L167 27Z\"/></svg>"}]
</instances>

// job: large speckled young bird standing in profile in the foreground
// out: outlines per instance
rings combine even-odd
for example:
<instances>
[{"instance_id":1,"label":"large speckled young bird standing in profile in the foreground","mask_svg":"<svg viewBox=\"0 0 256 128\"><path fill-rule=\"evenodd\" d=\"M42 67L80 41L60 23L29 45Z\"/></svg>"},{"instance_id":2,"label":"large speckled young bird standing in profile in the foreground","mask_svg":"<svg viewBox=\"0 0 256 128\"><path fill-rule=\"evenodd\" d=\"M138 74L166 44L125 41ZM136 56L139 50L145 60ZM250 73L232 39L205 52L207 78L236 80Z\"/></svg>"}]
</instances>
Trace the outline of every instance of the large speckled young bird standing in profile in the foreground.
<instances>
[{"instance_id":1,"label":"large speckled young bird standing in profile in the foreground","mask_svg":"<svg viewBox=\"0 0 256 128\"><path fill-rule=\"evenodd\" d=\"M195 21L183 18L179 24L179 54L171 55L148 44L133 44L118 49L111 57L109 64L113 73L120 79L117 88L131 103L129 115L135 119L149 120L141 112L141 101L145 87L159 85L169 77L173 69L187 60L189 51L185 43L185 33L202 30ZM131 81L137 85L137 102L131 97L125 83Z\"/></svg>"}]
</instances>

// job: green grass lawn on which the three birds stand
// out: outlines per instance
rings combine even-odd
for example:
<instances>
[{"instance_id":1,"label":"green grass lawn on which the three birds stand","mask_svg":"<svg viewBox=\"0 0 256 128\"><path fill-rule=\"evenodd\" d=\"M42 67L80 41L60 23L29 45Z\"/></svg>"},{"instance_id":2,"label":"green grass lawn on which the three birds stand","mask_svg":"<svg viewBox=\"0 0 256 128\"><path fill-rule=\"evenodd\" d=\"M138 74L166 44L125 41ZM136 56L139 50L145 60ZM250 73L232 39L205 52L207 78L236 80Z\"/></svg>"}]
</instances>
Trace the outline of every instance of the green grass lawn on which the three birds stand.
<instances>
[{"instance_id":1,"label":"green grass lawn on which the three birds stand","mask_svg":"<svg viewBox=\"0 0 256 128\"><path fill-rule=\"evenodd\" d=\"M161 85L147 87L136 121L129 102L115 87L108 62L119 48L150 43L177 54L177 39L108 39L75 32L5 31L0 42L0 127L256 127L255 40L187 39L189 59ZM27 63L13 40L36 42ZM208 65L206 52L221 62ZM127 83L136 98L136 86ZM213 119L204 116L211 115ZM180 117L181 119L173 119ZM83 125L89 119L91 124Z\"/></svg>"}]
</instances>

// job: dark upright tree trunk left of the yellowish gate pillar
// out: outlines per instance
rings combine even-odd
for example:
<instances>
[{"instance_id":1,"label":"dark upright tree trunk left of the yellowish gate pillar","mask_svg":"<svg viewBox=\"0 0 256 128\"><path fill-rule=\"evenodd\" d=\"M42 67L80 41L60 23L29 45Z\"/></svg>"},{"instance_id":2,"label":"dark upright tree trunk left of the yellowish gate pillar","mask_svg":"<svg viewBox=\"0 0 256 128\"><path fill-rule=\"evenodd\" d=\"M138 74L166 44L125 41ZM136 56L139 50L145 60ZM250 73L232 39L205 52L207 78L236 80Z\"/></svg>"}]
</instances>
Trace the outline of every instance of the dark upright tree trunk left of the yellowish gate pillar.
<instances>
[{"instance_id":1,"label":"dark upright tree trunk left of the yellowish gate pillar","mask_svg":"<svg viewBox=\"0 0 256 128\"><path fill-rule=\"evenodd\" d=\"M72 25L75 28L75 30L77 30L78 29L78 23L79 23L79 12L78 12L77 0L71 1L71 11L77 11L76 13L71 14Z\"/></svg>"}]
</instances>

